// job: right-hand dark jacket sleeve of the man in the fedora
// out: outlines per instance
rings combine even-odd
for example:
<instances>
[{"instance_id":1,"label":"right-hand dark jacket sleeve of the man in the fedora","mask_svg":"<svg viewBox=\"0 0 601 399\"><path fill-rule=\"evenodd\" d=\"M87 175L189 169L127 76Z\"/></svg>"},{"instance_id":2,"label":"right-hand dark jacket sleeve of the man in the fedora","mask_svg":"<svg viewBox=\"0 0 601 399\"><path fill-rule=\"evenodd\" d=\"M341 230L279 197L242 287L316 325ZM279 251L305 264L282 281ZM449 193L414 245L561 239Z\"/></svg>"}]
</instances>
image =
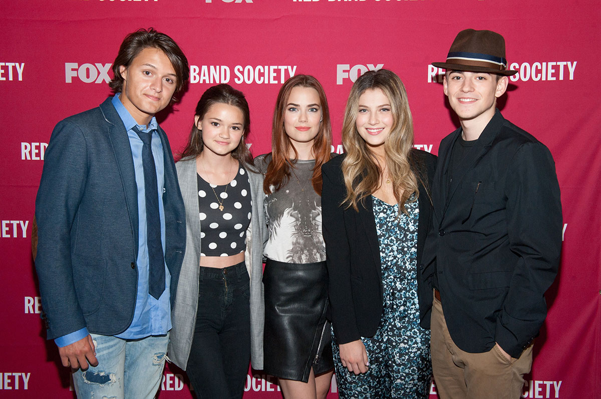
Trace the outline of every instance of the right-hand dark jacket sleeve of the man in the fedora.
<instances>
[{"instance_id":1,"label":"right-hand dark jacket sleeve of the man in the fedora","mask_svg":"<svg viewBox=\"0 0 601 399\"><path fill-rule=\"evenodd\" d=\"M495 340L518 358L546 317L543 295L558 272L563 221L555 163L544 145L523 144L508 176L508 239L519 259L497 319Z\"/></svg>"}]
</instances>

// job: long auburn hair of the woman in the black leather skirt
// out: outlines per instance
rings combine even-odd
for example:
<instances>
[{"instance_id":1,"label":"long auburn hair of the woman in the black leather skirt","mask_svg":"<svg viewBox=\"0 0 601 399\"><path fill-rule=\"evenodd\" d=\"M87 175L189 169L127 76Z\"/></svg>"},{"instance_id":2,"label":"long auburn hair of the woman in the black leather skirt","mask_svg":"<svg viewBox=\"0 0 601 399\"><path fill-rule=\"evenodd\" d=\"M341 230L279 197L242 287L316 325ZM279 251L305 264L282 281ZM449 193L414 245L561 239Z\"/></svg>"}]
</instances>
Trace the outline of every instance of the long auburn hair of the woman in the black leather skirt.
<instances>
[{"instance_id":1,"label":"long auburn hair of the woman in the black leather skirt","mask_svg":"<svg viewBox=\"0 0 601 399\"><path fill-rule=\"evenodd\" d=\"M290 92L296 86L316 89L319 95L319 102L322 108L322 122L319 132L313 142L313 154L315 155L315 167L311 185L317 194L322 194L322 165L329 161L332 145L332 125L330 124L330 112L328 109L328 100L323 91L322 85L317 79L310 75L296 75L286 80L282 88L279 89L278 100L275 103L273 111L273 125L271 135L271 162L267 166L265 180L263 182L263 191L266 194L278 191L290 179L290 168L294 167L294 159L297 158L297 152L292 142L284 130L284 113L288 103ZM294 152L294 158L290 158L290 149Z\"/></svg>"}]
</instances>

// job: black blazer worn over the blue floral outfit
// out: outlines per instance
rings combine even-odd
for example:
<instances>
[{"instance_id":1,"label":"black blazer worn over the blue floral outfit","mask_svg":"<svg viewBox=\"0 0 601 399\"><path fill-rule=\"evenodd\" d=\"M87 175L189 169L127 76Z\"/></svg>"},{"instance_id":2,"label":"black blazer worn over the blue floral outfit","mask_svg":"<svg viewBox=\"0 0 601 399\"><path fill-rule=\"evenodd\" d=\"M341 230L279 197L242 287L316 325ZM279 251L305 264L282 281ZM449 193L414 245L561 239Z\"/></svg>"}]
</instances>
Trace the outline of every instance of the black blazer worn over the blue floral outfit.
<instances>
[{"instance_id":1,"label":"black blazer worn over the blue floral outfit","mask_svg":"<svg viewBox=\"0 0 601 399\"><path fill-rule=\"evenodd\" d=\"M418 173L427 185L432 184L436 156L413 150L410 155ZM383 311L382 268L380 247L371 196L359 211L340 206L346 196L341 164L346 154L322 166L323 239L326 242L326 263L329 274L329 299L332 325L338 344L376 334ZM419 182L419 179L418 179ZM430 328L432 308L432 276L422 273L422 252L427 230L431 224L432 205L426 188L419 184L419 227L417 242L419 320Z\"/></svg>"}]
</instances>

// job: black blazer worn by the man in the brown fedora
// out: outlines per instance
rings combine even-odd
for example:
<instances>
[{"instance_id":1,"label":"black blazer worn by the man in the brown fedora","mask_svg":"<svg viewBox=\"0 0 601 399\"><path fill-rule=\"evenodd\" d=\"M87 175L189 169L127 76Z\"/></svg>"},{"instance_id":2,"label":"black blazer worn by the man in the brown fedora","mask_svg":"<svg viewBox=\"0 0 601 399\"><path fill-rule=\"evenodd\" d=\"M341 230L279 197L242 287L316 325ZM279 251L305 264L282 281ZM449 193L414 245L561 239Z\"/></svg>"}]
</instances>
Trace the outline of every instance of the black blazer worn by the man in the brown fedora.
<instances>
[{"instance_id":1,"label":"black blazer worn by the man in the brown fedora","mask_svg":"<svg viewBox=\"0 0 601 399\"><path fill-rule=\"evenodd\" d=\"M545 320L543 294L561 253L560 188L551 152L496 112L448 182L451 150L442 140L432 187L434 229L426 243L436 267L448 331L461 349L514 358Z\"/></svg>"}]
</instances>

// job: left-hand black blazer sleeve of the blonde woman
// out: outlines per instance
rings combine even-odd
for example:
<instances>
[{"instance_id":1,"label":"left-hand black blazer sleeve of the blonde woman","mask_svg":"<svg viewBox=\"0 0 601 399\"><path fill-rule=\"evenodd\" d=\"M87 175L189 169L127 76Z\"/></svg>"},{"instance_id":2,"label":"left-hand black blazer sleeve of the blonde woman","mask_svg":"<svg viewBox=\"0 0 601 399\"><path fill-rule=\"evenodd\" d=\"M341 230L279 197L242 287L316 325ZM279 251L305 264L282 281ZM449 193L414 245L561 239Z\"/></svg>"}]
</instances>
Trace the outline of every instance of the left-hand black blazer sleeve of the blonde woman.
<instances>
[{"instance_id":1,"label":"left-hand black blazer sleeve of the blonde woman","mask_svg":"<svg viewBox=\"0 0 601 399\"><path fill-rule=\"evenodd\" d=\"M346 344L361 339L361 334L350 289L350 248L340 206L345 188L339 175L340 170L334 167L322 167L322 232L326 243L332 326L337 343Z\"/></svg>"}]
</instances>

